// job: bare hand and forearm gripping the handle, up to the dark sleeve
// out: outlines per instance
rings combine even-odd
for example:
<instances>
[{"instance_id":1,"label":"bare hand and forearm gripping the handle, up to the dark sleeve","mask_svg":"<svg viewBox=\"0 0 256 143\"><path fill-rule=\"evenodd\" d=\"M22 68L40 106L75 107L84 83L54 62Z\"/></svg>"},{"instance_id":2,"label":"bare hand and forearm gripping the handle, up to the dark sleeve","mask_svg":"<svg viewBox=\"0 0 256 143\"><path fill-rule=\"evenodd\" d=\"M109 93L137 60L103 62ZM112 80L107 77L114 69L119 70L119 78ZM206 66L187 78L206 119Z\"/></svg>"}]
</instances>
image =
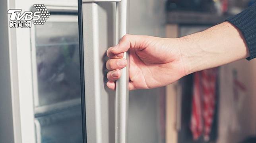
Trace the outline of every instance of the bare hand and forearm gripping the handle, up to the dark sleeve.
<instances>
[{"instance_id":1,"label":"bare hand and forearm gripping the handle, up to the dark sleeve","mask_svg":"<svg viewBox=\"0 0 256 143\"><path fill-rule=\"evenodd\" d=\"M107 86L111 89L127 65L122 56L128 50L130 90L169 85L190 73L249 56L242 34L229 22L175 39L126 35L107 51Z\"/></svg>"}]
</instances>

